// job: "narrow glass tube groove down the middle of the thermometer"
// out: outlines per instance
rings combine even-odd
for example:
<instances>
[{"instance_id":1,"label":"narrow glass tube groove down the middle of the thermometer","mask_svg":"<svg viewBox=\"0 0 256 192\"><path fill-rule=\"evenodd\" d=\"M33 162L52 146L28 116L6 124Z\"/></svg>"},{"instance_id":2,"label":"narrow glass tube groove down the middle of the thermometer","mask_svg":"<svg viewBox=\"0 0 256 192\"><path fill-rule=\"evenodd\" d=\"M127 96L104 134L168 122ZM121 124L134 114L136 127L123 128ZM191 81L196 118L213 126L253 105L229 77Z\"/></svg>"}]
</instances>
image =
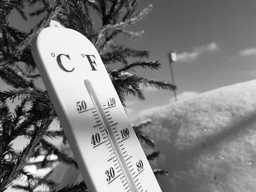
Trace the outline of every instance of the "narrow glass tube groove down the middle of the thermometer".
<instances>
[{"instance_id":1,"label":"narrow glass tube groove down the middle of the thermometer","mask_svg":"<svg viewBox=\"0 0 256 192\"><path fill-rule=\"evenodd\" d=\"M128 183L128 186L130 187L131 189L131 192L139 192L139 190L137 189L137 186L136 186L136 183L134 182L134 179L131 175L131 172L129 171L128 169L128 166L127 164L125 163L125 158L123 157L122 155L122 151L120 150L119 148L119 145L115 139L115 135L113 133L113 130L111 128L111 125L110 123L108 122L108 118L107 116L105 115L105 112L104 112L104 109L102 108L102 105L99 101L99 98L93 88L93 85L92 83L90 82L90 80L88 79L85 79L84 80L84 85L90 95L90 98L93 102L93 105L97 111L97 113L99 114L99 118L102 122L102 125L103 125L103 128L105 129L106 133L107 133L107 136L108 136L108 140L110 141L111 143L111 146L113 148L113 151L116 155L116 158L119 162L119 165L122 169L122 172L125 176L125 179Z\"/></svg>"}]
</instances>

